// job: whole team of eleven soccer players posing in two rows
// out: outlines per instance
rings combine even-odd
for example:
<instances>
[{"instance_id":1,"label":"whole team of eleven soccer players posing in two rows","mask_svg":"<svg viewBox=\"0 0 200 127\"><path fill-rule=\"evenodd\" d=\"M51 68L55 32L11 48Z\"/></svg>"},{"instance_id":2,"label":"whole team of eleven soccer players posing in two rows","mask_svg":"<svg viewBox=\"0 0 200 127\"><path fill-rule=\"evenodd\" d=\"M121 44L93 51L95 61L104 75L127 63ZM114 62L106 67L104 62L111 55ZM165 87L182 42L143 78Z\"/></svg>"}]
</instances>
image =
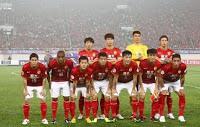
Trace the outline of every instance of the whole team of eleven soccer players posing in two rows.
<instances>
[{"instance_id":1,"label":"whole team of eleven soccer players posing in two rows","mask_svg":"<svg viewBox=\"0 0 200 127\"><path fill-rule=\"evenodd\" d=\"M73 65L70 59L65 58L64 51L58 51L57 57L45 65L38 62L38 55L32 53L30 61L22 68L24 79L23 125L29 121L29 100L33 91L40 98L42 123L48 124L46 119L47 105L45 102L45 79L51 89L52 123L56 123L58 97L63 96L63 108L66 123L76 123L75 98L80 93L78 119L85 117L87 123L96 123L98 119L105 122L115 122L124 119L119 113L119 94L126 89L129 93L132 108L131 119L143 122L144 100L147 89L152 96L151 120L165 122L164 106L168 105L167 116L174 119L172 113L172 98L170 93L175 91L179 96L180 122L185 122L185 94L184 77L186 65L181 62L181 56L168 48L168 37L160 37L158 49L148 49L141 44L141 33L133 32L133 44L121 53L114 47L114 35L105 35L106 47L98 52L92 49L94 40L86 38L85 49L79 52L79 65ZM62 92L61 92L62 90ZM98 115L98 96L101 92L101 114ZM85 114L83 113L85 107ZM92 110L93 120L90 119ZM112 111L111 117L109 116ZM139 111L139 112L138 112ZM71 119L69 119L69 113ZM83 115L84 114L84 115Z\"/></svg>"}]
</instances>

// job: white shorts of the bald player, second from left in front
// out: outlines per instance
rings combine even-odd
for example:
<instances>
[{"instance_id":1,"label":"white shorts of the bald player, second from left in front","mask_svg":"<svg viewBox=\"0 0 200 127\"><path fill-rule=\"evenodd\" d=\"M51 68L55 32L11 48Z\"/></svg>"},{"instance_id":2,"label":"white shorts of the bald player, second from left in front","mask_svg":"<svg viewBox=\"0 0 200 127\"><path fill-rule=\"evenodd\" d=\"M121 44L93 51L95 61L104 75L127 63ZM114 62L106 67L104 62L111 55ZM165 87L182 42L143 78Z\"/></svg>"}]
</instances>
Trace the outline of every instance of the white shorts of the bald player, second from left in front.
<instances>
[{"instance_id":1,"label":"white shorts of the bald player, second from left in front","mask_svg":"<svg viewBox=\"0 0 200 127\"><path fill-rule=\"evenodd\" d=\"M60 95L64 97L70 96L69 82L51 82L51 97L58 98Z\"/></svg>"}]
</instances>

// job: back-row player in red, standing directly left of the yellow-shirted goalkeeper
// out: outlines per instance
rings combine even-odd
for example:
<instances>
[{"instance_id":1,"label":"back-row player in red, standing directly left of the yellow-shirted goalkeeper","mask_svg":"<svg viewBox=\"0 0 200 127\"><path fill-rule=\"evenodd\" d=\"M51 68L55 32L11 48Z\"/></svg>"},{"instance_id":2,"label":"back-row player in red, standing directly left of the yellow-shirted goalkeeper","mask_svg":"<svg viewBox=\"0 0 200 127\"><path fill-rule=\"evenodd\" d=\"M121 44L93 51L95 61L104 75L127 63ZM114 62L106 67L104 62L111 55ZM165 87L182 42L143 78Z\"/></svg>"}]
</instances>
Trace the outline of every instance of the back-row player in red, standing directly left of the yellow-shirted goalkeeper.
<instances>
[{"instance_id":1,"label":"back-row player in red, standing directly left of the yellow-shirted goalkeeper","mask_svg":"<svg viewBox=\"0 0 200 127\"><path fill-rule=\"evenodd\" d=\"M115 64L117 61L121 60L121 50L114 46L114 35L112 33L107 33L104 36L105 48L101 49L100 52L105 52L108 55L108 62ZM101 97L101 114L99 119L104 119L104 96ZM119 113L119 100L117 100L117 118L124 119L124 117Z\"/></svg>"}]
</instances>

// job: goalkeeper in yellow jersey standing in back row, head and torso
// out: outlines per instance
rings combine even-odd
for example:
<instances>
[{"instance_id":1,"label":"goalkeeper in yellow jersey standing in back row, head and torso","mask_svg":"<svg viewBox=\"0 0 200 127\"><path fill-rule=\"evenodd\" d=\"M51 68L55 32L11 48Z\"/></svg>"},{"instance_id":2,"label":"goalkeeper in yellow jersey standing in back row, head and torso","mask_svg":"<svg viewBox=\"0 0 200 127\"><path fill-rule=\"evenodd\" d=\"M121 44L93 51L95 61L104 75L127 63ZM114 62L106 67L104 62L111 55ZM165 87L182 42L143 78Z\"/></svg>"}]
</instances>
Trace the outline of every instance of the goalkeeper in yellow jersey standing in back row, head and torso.
<instances>
[{"instance_id":1,"label":"goalkeeper in yellow jersey standing in back row, head and torso","mask_svg":"<svg viewBox=\"0 0 200 127\"><path fill-rule=\"evenodd\" d=\"M133 31L132 36L133 44L128 45L126 49L131 51L132 59L139 64L141 60L147 58L148 47L142 44L140 31Z\"/></svg>"}]
</instances>

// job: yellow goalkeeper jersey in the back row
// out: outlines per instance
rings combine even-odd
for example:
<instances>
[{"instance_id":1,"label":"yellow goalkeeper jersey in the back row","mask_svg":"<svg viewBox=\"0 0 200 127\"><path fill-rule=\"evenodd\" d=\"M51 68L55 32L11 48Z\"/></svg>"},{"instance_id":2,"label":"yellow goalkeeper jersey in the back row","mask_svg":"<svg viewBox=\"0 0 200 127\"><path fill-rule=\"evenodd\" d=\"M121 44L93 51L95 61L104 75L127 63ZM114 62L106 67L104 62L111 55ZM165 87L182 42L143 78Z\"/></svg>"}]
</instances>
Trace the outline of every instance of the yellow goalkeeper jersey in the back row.
<instances>
[{"instance_id":1,"label":"yellow goalkeeper jersey in the back row","mask_svg":"<svg viewBox=\"0 0 200 127\"><path fill-rule=\"evenodd\" d=\"M147 58L147 50L148 47L144 44L130 44L126 47L127 50L131 51L132 59L137 61L139 64L138 58L142 57L142 59Z\"/></svg>"}]
</instances>

